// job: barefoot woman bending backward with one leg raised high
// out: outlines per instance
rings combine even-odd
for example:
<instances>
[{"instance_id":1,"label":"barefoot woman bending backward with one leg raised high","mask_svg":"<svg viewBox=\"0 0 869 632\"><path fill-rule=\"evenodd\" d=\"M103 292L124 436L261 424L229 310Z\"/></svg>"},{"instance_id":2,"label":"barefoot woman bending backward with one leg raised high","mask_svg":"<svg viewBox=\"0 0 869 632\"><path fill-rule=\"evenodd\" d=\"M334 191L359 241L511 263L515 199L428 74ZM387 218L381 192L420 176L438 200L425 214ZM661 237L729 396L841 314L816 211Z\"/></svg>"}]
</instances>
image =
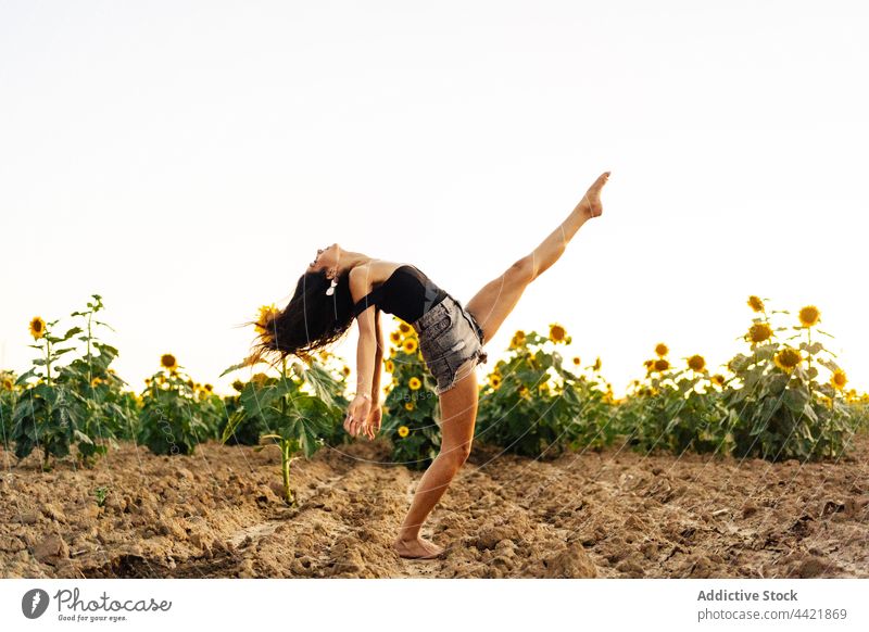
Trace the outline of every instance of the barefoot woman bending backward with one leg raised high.
<instances>
[{"instance_id":1,"label":"barefoot woman bending backward with one leg raised high","mask_svg":"<svg viewBox=\"0 0 869 632\"><path fill-rule=\"evenodd\" d=\"M407 558L430 559L443 547L419 535L429 513L446 491L470 454L477 419L477 376L474 367L486 362L482 346L492 339L516 306L525 288L554 264L567 242L588 219L603 213L603 173L570 215L530 254L488 282L462 304L412 265L400 265L342 250L337 243L317 251L299 279L287 307L262 324L265 333L251 357L276 351L310 359L310 354L339 338L353 319L358 323L356 394L344 428L369 440L380 429L380 370L383 336L380 311L411 324L419 351L437 380L441 407L440 454L426 470L398 536L395 552Z\"/></svg>"}]
</instances>

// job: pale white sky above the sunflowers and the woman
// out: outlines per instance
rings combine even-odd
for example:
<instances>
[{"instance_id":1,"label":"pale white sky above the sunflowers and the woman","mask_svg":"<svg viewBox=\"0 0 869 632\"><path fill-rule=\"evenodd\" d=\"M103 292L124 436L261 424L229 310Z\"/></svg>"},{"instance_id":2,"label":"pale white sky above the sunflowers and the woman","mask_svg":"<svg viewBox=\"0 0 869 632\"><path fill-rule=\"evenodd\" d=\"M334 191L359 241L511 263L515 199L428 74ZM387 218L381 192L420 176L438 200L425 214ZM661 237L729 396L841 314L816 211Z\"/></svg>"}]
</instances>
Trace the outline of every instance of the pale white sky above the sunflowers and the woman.
<instances>
[{"instance_id":1,"label":"pale white sky above the sunflowers and the woman","mask_svg":"<svg viewBox=\"0 0 869 632\"><path fill-rule=\"evenodd\" d=\"M654 345L723 365L750 294L869 388L860 2L0 2L0 368L106 304L139 390L242 359L337 241L463 303L604 170L604 215L526 291L617 395ZM387 317L386 323L392 326ZM355 369L356 327L337 352ZM68 357L68 355L66 356ZM821 374L827 378L828 374ZM351 392L355 385L352 376Z\"/></svg>"}]
</instances>

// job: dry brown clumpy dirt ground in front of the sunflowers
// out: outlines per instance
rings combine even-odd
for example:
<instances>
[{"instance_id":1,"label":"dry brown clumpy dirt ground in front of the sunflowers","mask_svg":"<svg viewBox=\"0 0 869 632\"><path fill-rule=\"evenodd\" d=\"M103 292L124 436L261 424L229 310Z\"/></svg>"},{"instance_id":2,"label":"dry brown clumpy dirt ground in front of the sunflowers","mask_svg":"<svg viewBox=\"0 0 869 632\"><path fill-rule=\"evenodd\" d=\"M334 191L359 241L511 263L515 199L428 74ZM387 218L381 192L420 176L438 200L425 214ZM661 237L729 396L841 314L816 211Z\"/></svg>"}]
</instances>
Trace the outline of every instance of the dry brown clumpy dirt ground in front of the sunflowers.
<instances>
[{"instance_id":1,"label":"dry brown clumpy dirt ground in front of the sunflowers","mask_svg":"<svg viewBox=\"0 0 869 632\"><path fill-rule=\"evenodd\" d=\"M423 530L448 547L436 560L390 548L421 472L387 456L360 441L293 462L291 509L276 447L124 444L48 473L0 450L0 577L869 577L866 435L837 464L802 466L475 445Z\"/></svg>"}]
</instances>

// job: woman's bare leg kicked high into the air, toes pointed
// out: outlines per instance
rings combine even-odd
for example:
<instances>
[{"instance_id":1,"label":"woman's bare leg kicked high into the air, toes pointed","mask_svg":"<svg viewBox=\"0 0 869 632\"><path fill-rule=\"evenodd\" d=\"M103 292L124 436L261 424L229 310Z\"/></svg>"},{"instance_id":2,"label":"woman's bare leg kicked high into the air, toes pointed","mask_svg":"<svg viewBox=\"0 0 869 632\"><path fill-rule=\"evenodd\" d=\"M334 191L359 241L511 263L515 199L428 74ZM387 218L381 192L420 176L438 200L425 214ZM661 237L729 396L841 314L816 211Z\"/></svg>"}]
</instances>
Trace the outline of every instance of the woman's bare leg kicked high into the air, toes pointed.
<instances>
[{"instance_id":1,"label":"woman's bare leg kicked high into the air, toes pointed","mask_svg":"<svg viewBox=\"0 0 869 632\"><path fill-rule=\"evenodd\" d=\"M503 275L489 281L467 302L465 307L482 327L483 342L492 339L519 302L525 288L558 261L579 228L592 217L603 213L601 189L608 178L609 172L601 174L567 219L562 222L540 245L514 263Z\"/></svg>"}]
</instances>

